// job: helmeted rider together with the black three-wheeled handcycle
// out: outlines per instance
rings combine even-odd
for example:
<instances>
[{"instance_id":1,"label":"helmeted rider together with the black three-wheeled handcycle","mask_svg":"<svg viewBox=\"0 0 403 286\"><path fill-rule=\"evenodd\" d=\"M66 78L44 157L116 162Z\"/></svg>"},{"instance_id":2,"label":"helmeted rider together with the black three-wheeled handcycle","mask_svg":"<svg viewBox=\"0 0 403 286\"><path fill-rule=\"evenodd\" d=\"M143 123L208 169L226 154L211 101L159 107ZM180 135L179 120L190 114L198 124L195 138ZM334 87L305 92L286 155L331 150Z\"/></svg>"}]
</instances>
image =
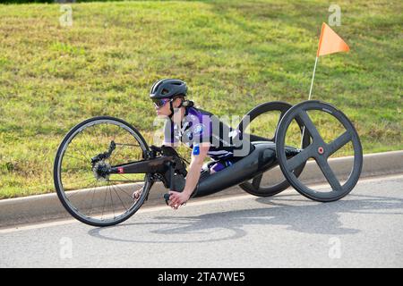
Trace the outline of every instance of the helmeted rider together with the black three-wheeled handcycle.
<instances>
[{"instance_id":1,"label":"helmeted rider together with the black three-wheeled handcycle","mask_svg":"<svg viewBox=\"0 0 403 286\"><path fill-rule=\"evenodd\" d=\"M174 209L189 198L236 185L258 197L274 196L292 185L306 198L321 202L343 198L356 186L363 165L361 143L352 122L335 106L317 100L296 105L265 102L244 114L232 130L217 116L195 108L186 92L182 80L159 80L150 90L157 114L168 119L167 146L149 147L130 123L107 115L69 130L57 148L54 182L58 198L74 218L94 226L122 223L139 210L157 181L170 190L163 197ZM337 120L343 126L341 133L325 141L312 111ZM262 120L267 114L279 116L274 136L265 131L253 134L253 121L272 126L267 117ZM175 150L180 141L193 150L188 171ZM347 180L340 181L328 159L350 143L353 166ZM206 156L212 161L203 165ZM329 182L328 188L313 188L299 180L310 158ZM267 185L263 174L278 165L284 180Z\"/></svg>"}]
</instances>

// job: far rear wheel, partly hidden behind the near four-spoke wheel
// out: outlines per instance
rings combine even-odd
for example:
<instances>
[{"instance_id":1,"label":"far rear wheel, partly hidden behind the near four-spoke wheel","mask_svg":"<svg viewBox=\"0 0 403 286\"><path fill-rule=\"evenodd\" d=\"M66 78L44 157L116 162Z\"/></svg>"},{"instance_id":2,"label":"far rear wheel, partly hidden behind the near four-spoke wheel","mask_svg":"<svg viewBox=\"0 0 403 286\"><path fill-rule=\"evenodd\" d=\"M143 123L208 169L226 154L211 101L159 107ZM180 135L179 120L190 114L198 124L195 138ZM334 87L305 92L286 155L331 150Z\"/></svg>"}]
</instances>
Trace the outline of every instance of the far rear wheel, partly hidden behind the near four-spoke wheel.
<instances>
[{"instance_id":1,"label":"far rear wheel, partly hidden behind the near four-spoke wheel","mask_svg":"<svg viewBox=\"0 0 403 286\"><path fill-rule=\"evenodd\" d=\"M284 114L286 114L287 110L291 108L291 106L292 105L281 101L267 102L262 105L258 105L244 115L242 122L239 123L237 128L242 132L250 133L250 141L270 141L275 143L275 132L273 131L270 134L268 126L271 126L272 129L275 130L279 124L279 121ZM300 122L299 119L296 119L295 124L297 124L296 126L300 127L299 131L302 132L302 122ZM309 145L308 136L304 137L303 144L304 146ZM303 170L304 164L298 166L294 171L296 177L298 177ZM252 181L245 181L239 186L246 192L258 197L274 196L290 186L286 179L283 181L276 181L274 183L271 182L269 185L264 186L262 183L262 177L262 173L258 174L253 178Z\"/></svg>"}]
</instances>

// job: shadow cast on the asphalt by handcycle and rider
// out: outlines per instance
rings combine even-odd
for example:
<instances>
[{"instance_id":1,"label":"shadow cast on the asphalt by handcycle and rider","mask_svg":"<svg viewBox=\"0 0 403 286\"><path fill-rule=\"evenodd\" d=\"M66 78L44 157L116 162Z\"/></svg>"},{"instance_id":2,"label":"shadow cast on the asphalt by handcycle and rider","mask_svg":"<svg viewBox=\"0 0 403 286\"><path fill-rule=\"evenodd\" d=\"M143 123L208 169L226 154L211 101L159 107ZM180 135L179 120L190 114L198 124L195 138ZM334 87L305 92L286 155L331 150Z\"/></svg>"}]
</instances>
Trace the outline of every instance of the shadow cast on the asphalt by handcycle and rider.
<instances>
[{"instance_id":1,"label":"shadow cast on the asphalt by handcycle and rider","mask_svg":"<svg viewBox=\"0 0 403 286\"><path fill-rule=\"evenodd\" d=\"M152 219L157 222L122 223L114 227L92 229L89 234L99 239L121 242L200 243L237 240L247 234L244 231L245 225L270 224L287 226L287 230L303 233L348 235L360 230L344 227L339 221L340 214L403 214L403 199L381 196L349 195L347 199L333 203L316 203L299 194L287 194L256 198L256 202L263 207L197 216L155 216ZM150 226L148 235L142 229L141 236L136 237L133 235L133 227L141 225ZM120 230L121 236L114 237L116 229L120 228L124 228ZM114 230L114 236L103 233L111 229ZM225 230L225 234L220 237L213 235L218 230ZM132 232L129 238L127 232ZM144 234L150 240L141 240Z\"/></svg>"}]
</instances>

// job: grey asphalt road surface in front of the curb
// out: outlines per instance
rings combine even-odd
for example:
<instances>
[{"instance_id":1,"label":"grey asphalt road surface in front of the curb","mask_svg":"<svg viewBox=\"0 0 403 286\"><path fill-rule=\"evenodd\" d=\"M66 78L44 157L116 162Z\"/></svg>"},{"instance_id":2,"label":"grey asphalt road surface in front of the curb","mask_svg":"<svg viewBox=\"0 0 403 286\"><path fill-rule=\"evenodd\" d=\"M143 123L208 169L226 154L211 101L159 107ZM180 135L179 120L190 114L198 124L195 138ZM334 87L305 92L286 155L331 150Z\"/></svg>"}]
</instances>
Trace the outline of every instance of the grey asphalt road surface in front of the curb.
<instances>
[{"instance_id":1,"label":"grey asphalt road surface in front of the curb","mask_svg":"<svg viewBox=\"0 0 403 286\"><path fill-rule=\"evenodd\" d=\"M0 230L1 267L402 267L403 174L317 203L287 189L143 208L115 227Z\"/></svg>"}]
</instances>

